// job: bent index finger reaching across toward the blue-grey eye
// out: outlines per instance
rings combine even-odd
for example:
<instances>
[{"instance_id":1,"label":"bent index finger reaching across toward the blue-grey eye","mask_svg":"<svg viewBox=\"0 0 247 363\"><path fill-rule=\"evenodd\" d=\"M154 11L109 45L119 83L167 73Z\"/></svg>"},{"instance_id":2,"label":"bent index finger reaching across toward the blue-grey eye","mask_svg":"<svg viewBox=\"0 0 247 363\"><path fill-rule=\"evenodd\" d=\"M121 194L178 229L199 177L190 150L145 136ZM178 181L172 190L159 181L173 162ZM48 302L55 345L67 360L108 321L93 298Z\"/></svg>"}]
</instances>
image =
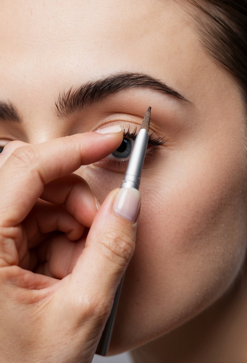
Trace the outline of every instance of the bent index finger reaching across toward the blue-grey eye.
<instances>
[{"instance_id":1,"label":"bent index finger reaching across toward the blue-grey eye","mask_svg":"<svg viewBox=\"0 0 247 363\"><path fill-rule=\"evenodd\" d=\"M116 150L123 134L120 126L114 131L85 132L17 148L1 168L0 226L20 223L42 194L44 184Z\"/></svg>"}]
</instances>

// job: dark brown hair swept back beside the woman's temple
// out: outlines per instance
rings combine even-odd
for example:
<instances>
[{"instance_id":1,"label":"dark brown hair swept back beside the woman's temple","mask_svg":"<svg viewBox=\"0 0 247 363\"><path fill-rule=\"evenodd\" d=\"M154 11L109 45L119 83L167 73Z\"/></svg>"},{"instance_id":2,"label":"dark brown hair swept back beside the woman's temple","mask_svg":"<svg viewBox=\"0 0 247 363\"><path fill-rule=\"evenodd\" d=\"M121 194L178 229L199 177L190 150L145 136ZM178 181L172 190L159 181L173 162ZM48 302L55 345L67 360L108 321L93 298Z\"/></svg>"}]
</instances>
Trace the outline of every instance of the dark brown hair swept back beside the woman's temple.
<instances>
[{"instance_id":1,"label":"dark brown hair swept back beside the woman's temple","mask_svg":"<svg viewBox=\"0 0 247 363\"><path fill-rule=\"evenodd\" d=\"M188 1L200 10L191 15L202 46L238 79L247 101L247 1Z\"/></svg>"}]
</instances>

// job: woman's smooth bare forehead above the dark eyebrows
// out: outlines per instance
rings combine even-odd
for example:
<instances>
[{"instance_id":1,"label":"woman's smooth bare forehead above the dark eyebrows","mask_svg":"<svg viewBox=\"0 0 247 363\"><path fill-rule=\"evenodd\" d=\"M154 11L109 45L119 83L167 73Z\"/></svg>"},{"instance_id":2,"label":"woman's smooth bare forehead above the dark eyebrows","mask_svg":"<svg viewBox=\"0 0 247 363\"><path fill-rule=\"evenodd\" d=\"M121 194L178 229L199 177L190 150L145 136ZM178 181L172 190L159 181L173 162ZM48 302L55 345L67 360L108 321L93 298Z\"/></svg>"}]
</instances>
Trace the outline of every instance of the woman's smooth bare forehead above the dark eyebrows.
<instances>
[{"instance_id":1,"label":"woman's smooth bare forehead above the dark eyebrows","mask_svg":"<svg viewBox=\"0 0 247 363\"><path fill-rule=\"evenodd\" d=\"M1 7L0 61L12 78L21 69L71 83L131 70L164 74L176 87L187 82L184 69L196 73L198 37L176 1L6 0Z\"/></svg>"}]
</instances>

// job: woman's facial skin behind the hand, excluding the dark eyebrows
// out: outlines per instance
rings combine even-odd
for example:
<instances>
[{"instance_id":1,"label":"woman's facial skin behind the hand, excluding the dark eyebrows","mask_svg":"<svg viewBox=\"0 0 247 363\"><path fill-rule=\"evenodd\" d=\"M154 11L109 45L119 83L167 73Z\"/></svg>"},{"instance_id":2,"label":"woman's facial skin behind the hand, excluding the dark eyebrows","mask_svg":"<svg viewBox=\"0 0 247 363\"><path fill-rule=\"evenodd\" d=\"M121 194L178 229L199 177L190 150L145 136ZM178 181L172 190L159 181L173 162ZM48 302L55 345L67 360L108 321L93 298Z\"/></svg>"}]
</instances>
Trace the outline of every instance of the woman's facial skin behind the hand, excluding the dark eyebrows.
<instances>
[{"instance_id":1,"label":"woman's facial skin behind the hand, excluding the dark eyebrows","mask_svg":"<svg viewBox=\"0 0 247 363\"><path fill-rule=\"evenodd\" d=\"M150 142L147 152L137 245L125 275L112 354L159 337L200 313L229 288L243 264L241 95L234 78L201 48L181 3L1 4L0 99L11 102L22 119L0 121L2 144L15 139L40 143L115 123L131 134L152 107L151 139L163 144ZM68 115L56 113L54 101L64 90L125 72L159 79L193 105L144 82ZM127 85L132 81L125 78ZM102 202L120 187L122 159L128 155L110 155L76 173Z\"/></svg>"}]
</instances>

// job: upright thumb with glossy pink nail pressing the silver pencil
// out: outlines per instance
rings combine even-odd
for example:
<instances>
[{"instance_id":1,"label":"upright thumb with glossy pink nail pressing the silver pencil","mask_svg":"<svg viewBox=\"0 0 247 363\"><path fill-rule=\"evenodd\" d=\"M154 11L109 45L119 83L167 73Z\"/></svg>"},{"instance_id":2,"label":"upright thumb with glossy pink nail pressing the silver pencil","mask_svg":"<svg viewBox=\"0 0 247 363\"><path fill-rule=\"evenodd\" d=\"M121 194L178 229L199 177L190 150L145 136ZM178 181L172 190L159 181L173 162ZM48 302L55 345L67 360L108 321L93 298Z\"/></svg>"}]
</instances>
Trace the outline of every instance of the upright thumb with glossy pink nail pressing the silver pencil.
<instances>
[{"instance_id":1,"label":"upright thumb with glossy pink nail pressing the silver pencil","mask_svg":"<svg viewBox=\"0 0 247 363\"><path fill-rule=\"evenodd\" d=\"M121 188L110 192L99 208L67 285L70 291L66 295L73 296L73 302L78 301L79 314L85 313L83 301L89 310L97 307L103 315L110 312L117 286L134 252L140 204L137 189Z\"/></svg>"}]
</instances>

